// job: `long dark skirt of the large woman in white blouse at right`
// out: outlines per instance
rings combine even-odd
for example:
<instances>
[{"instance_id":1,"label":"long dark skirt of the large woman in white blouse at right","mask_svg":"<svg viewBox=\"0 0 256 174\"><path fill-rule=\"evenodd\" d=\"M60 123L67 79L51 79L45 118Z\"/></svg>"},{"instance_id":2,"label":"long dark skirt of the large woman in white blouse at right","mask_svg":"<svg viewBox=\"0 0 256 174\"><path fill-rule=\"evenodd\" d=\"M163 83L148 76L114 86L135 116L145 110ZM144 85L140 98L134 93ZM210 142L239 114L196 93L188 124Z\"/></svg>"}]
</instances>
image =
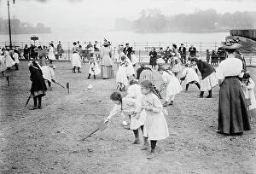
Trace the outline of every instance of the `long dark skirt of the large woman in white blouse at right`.
<instances>
[{"instance_id":1,"label":"long dark skirt of the large woman in white blouse at right","mask_svg":"<svg viewBox=\"0 0 256 174\"><path fill-rule=\"evenodd\" d=\"M218 131L236 134L250 129L247 105L239 79L224 78L219 90Z\"/></svg>"}]
</instances>

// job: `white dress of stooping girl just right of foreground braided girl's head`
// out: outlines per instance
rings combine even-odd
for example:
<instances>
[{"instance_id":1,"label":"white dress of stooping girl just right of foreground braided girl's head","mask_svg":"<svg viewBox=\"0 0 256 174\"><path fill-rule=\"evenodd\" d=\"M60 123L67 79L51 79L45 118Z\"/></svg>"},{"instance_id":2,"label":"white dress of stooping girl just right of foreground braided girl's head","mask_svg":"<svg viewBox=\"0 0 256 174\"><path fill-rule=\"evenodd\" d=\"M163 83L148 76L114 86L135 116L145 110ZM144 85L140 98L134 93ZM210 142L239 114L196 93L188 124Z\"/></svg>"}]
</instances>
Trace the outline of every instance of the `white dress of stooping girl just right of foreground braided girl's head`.
<instances>
[{"instance_id":1,"label":"white dress of stooping girl just right of foreground braided girl's head","mask_svg":"<svg viewBox=\"0 0 256 174\"><path fill-rule=\"evenodd\" d=\"M166 96L172 96L180 93L183 89L179 84L178 79L174 76L171 71L163 72L162 79L166 83Z\"/></svg>"}]
</instances>

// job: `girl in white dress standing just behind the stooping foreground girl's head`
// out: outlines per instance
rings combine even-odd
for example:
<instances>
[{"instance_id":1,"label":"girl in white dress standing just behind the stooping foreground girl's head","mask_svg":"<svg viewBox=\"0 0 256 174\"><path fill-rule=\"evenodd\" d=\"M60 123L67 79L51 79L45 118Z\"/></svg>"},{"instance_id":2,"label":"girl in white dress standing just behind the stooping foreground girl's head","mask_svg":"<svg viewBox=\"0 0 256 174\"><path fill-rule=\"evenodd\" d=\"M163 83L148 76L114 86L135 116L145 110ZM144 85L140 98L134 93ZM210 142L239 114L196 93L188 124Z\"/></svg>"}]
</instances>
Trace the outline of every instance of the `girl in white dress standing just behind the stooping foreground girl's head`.
<instances>
[{"instance_id":1,"label":"girl in white dress standing just behind the stooping foreground girl's head","mask_svg":"<svg viewBox=\"0 0 256 174\"><path fill-rule=\"evenodd\" d=\"M117 89L120 91L125 90L125 87L128 86L127 67L128 67L128 62L126 61L126 57L121 56L119 70L116 73L116 83L118 84Z\"/></svg>"}]
</instances>

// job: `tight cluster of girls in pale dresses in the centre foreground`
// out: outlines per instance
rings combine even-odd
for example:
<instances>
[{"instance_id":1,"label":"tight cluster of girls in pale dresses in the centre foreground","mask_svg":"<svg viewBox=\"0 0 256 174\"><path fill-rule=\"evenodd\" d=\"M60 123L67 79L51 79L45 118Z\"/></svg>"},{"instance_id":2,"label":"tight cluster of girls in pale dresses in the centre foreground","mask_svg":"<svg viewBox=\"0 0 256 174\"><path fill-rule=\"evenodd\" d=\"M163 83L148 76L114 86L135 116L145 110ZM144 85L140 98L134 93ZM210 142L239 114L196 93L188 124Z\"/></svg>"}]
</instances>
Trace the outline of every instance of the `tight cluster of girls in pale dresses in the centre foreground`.
<instances>
[{"instance_id":1,"label":"tight cluster of girls in pale dresses in the centre foreground","mask_svg":"<svg viewBox=\"0 0 256 174\"><path fill-rule=\"evenodd\" d=\"M113 92L110 99L113 101L114 107L105 123L108 123L118 113L128 114L131 118L130 129L135 136L133 144L139 143L138 135L139 129L141 129L144 142L142 150L148 149L149 140L151 151L147 159L153 159L156 142L169 136L164 109L154 90L154 85L148 80L138 84L136 80L132 79L127 96L122 97L119 92Z\"/></svg>"}]
</instances>

